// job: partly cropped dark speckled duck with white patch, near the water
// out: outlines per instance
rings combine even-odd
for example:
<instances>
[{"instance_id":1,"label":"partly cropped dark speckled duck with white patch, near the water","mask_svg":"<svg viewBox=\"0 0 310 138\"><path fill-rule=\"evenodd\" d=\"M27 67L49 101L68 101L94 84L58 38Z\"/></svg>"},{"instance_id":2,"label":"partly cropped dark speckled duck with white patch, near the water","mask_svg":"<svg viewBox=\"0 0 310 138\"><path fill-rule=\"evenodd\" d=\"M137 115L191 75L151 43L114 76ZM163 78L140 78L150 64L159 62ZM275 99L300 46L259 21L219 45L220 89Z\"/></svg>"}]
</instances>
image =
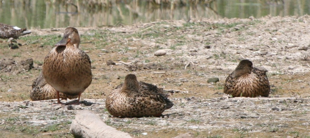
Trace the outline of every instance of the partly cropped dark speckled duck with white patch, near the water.
<instances>
[{"instance_id":1,"label":"partly cropped dark speckled duck with white patch, near the water","mask_svg":"<svg viewBox=\"0 0 310 138\"><path fill-rule=\"evenodd\" d=\"M21 29L18 28L17 26L11 26L8 24L0 23L0 38L2 39L7 39L11 37L17 39L18 37L29 33L30 31L27 31L26 28Z\"/></svg>"}]
</instances>

